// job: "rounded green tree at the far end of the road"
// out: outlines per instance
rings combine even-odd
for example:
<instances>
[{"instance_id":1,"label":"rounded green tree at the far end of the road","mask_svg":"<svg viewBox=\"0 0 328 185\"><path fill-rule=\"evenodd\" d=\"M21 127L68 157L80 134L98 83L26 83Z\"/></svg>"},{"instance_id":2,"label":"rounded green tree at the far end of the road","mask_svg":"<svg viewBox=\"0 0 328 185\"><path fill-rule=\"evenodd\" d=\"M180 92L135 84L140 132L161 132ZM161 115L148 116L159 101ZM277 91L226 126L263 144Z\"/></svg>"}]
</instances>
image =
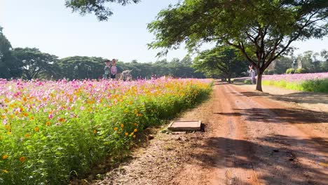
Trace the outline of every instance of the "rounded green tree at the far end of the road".
<instances>
[{"instance_id":1,"label":"rounded green tree at the far end of the road","mask_svg":"<svg viewBox=\"0 0 328 185\"><path fill-rule=\"evenodd\" d=\"M228 83L231 83L232 77L238 77L247 71L247 64L231 47L218 47L201 52L195 58L193 67L210 76L223 76L228 79Z\"/></svg>"}]
</instances>

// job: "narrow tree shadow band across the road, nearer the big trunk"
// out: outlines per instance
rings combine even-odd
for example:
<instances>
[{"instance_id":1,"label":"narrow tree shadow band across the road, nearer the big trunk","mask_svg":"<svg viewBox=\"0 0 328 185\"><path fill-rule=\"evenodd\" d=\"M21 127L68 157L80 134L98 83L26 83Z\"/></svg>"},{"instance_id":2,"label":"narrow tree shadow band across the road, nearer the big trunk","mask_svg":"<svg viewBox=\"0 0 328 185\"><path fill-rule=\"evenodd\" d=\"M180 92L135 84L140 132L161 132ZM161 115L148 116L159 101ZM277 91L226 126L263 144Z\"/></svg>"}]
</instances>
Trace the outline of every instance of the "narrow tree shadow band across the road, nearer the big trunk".
<instances>
[{"instance_id":1,"label":"narrow tree shadow band across the road, nearer the big trunk","mask_svg":"<svg viewBox=\"0 0 328 185\"><path fill-rule=\"evenodd\" d=\"M231 113L214 113L225 116L244 116L247 121L261 121L264 123L327 123L326 112L303 109L233 109Z\"/></svg>"}]
</instances>

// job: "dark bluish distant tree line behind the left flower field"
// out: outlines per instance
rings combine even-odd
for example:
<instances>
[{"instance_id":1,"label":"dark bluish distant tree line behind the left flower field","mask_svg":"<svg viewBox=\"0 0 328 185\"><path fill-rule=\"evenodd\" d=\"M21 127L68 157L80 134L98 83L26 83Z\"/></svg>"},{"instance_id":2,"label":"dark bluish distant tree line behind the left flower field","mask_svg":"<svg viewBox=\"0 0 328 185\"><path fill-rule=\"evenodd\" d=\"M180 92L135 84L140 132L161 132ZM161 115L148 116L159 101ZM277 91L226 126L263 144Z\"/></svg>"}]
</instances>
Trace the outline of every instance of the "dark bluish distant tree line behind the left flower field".
<instances>
[{"instance_id":1,"label":"dark bluish distant tree line behind the left flower field","mask_svg":"<svg viewBox=\"0 0 328 185\"><path fill-rule=\"evenodd\" d=\"M13 48L0 27L0 78L84 79L100 78L104 74L102 57L65 57L41 52L38 48ZM205 78L203 73L191 67L193 61L186 56L182 60L158 60L156 62L122 62L118 71L132 70L132 78L173 76L177 78Z\"/></svg>"}]
</instances>

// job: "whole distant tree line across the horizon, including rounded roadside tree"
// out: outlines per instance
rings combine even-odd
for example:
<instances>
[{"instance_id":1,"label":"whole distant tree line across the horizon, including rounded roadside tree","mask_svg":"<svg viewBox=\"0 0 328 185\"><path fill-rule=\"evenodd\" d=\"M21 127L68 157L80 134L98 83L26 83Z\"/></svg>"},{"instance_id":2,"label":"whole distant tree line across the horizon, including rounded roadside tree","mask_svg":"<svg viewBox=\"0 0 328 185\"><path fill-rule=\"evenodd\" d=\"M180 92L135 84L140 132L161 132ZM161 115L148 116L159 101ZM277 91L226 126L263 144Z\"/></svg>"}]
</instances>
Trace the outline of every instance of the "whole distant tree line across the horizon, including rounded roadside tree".
<instances>
[{"instance_id":1,"label":"whole distant tree line across the horizon, including rounded roadside tree","mask_svg":"<svg viewBox=\"0 0 328 185\"><path fill-rule=\"evenodd\" d=\"M0 27L0 78L85 79L100 78L104 73L102 57L74 56L59 59L38 48L13 48ZM131 70L132 78L173 76L176 78L230 78L247 76L247 63L231 47L204 50L192 60L174 58L156 62L123 62L118 71ZM328 71L328 51L306 51L297 57L279 57L264 74L306 73Z\"/></svg>"}]
</instances>

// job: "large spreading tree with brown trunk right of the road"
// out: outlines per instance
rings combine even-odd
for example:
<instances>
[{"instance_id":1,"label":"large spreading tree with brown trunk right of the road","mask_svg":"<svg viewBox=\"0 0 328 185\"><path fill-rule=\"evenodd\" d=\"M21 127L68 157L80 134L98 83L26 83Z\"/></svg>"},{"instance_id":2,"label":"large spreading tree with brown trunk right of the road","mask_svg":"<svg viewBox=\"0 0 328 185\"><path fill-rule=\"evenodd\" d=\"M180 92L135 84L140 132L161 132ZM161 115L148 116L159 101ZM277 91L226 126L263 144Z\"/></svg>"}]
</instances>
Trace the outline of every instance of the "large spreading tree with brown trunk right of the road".
<instances>
[{"instance_id":1,"label":"large spreading tree with brown trunk right of the road","mask_svg":"<svg viewBox=\"0 0 328 185\"><path fill-rule=\"evenodd\" d=\"M327 0L185 0L160 11L148 26L156 35L150 48L193 50L202 43L228 44L257 69L257 90L264 70L289 51L293 41L327 35Z\"/></svg>"}]
</instances>

